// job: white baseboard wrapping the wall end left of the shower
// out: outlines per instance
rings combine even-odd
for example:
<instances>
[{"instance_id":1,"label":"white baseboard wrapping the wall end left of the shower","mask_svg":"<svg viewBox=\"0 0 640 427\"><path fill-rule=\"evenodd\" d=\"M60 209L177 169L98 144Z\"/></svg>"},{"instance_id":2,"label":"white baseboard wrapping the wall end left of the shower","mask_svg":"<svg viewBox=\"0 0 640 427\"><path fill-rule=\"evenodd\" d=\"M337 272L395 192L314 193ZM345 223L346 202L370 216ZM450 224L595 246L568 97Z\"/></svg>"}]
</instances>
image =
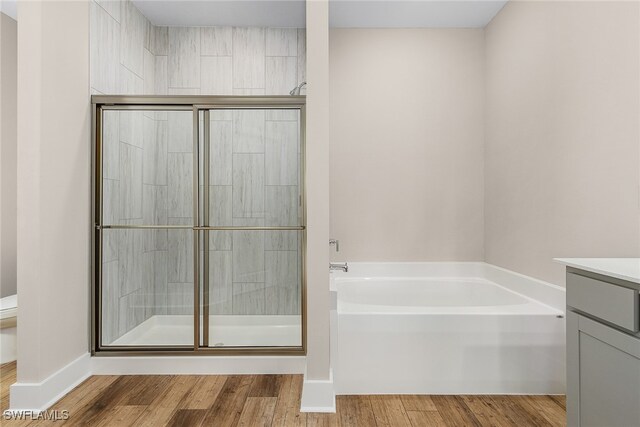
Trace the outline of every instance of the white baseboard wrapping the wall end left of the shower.
<instances>
[{"instance_id":1,"label":"white baseboard wrapping the wall end left of the shower","mask_svg":"<svg viewBox=\"0 0 640 427\"><path fill-rule=\"evenodd\" d=\"M44 411L90 375L91 356L86 353L40 383L15 383L11 386L11 410Z\"/></svg>"}]
</instances>

